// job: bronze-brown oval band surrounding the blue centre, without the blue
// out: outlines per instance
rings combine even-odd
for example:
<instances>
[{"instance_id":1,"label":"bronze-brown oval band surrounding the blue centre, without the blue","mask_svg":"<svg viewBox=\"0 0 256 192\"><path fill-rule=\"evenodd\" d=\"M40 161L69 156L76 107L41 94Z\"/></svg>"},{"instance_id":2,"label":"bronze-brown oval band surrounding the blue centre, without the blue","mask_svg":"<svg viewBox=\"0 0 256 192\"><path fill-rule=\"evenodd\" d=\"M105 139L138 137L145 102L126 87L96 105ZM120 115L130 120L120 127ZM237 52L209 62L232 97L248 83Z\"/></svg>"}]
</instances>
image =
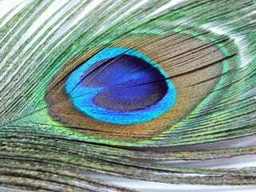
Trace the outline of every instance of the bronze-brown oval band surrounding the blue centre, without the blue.
<instances>
[{"instance_id":1,"label":"bronze-brown oval band surrounding the blue centre, without the blue","mask_svg":"<svg viewBox=\"0 0 256 192\"><path fill-rule=\"evenodd\" d=\"M124 46L145 54L170 75L177 91L174 106L149 122L120 125L98 121L77 110L65 92L68 74L106 46ZM96 138L133 142L150 139L186 118L206 98L222 74L224 54L213 42L202 41L187 34L130 34L110 45L86 50L66 62L48 87L46 102L50 116L70 129ZM174 77L174 78L171 78ZM57 104L56 104L57 103ZM54 105L53 105L54 104Z\"/></svg>"}]
</instances>

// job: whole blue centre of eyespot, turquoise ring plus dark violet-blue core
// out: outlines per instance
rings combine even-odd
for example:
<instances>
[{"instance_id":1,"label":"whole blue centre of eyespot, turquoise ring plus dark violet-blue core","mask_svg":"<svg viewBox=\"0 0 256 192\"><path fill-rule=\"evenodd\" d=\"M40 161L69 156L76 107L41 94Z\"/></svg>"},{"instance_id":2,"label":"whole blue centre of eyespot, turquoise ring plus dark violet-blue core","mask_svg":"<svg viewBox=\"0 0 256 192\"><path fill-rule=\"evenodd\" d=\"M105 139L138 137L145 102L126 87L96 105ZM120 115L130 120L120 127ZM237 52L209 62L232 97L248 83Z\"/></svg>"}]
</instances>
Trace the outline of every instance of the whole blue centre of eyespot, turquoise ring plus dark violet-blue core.
<instances>
[{"instance_id":1,"label":"whole blue centre of eyespot, turquoise ring plus dark violet-blue core","mask_svg":"<svg viewBox=\"0 0 256 192\"><path fill-rule=\"evenodd\" d=\"M74 106L104 122L149 121L174 105L176 90L156 63L126 47L105 48L66 81Z\"/></svg>"}]
</instances>

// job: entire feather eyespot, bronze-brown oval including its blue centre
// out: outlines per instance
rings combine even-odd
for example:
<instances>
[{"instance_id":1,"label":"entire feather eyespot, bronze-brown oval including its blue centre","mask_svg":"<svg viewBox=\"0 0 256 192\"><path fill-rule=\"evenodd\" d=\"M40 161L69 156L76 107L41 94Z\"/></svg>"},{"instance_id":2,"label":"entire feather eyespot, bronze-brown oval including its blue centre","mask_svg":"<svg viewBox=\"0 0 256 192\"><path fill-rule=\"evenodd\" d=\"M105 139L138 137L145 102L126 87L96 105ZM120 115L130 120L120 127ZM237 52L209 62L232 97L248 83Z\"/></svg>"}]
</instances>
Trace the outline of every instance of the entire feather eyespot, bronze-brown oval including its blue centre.
<instances>
[{"instance_id":1,"label":"entire feather eyespot, bronze-brown oval including its blue centre","mask_svg":"<svg viewBox=\"0 0 256 192\"><path fill-rule=\"evenodd\" d=\"M169 30L109 37L63 65L48 87L48 113L95 139L149 140L206 98L225 57L207 38Z\"/></svg>"}]
</instances>

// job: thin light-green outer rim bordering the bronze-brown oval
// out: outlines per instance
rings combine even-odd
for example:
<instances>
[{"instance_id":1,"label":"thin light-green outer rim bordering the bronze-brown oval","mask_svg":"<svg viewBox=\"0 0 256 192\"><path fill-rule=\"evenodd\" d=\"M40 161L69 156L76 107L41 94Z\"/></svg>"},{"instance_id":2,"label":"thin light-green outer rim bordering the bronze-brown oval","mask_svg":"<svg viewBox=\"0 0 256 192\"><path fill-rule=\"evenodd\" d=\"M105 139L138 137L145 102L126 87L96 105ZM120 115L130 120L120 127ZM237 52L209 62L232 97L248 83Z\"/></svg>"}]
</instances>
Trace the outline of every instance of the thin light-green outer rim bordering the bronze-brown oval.
<instances>
[{"instance_id":1,"label":"thin light-green outer rim bordering the bronze-brown oval","mask_svg":"<svg viewBox=\"0 0 256 192\"><path fill-rule=\"evenodd\" d=\"M162 25L164 25L164 23L161 23ZM150 30L148 28L146 28L146 26L143 26L143 28L137 28L136 30L132 30L130 32L130 34L166 34L168 32L174 32L177 34L189 34L194 36L194 38L198 38L199 40L205 41L205 40L209 40L211 42L214 42L214 44L216 46L218 46L219 50L222 51L222 53L228 57L230 56L230 54L232 54L232 52L238 52L238 47L234 44L231 43L226 46L224 44L222 44L222 42L218 42L218 38L222 38L222 37L227 37L226 35L219 35L219 34L214 34L214 32L211 32L209 30L205 30L205 29L200 29L198 28L198 26L170 26L170 23L168 24L168 26L164 26L162 29L157 27L155 28L154 25L152 25L152 23L150 23ZM205 33L207 32L207 33ZM123 30L116 31L115 34L111 35L108 38L105 38L105 40L103 40L100 44L91 44L90 46L84 46L81 49L75 50L71 55L75 55L78 54L80 51L82 50L88 50L91 49L95 46L99 46L99 45L103 45L103 44L110 44L113 41L113 36L116 36L118 33L123 34ZM206 34L206 35L203 35ZM236 65L236 63L238 63L238 61L240 60L239 56L237 55L236 57L234 57L232 59L232 64ZM228 71L230 69L230 60L223 61L223 69L222 69L222 73L225 73L226 71ZM223 82L226 81L226 76L222 76L218 82L218 84L215 86L214 90L217 90L219 87L222 86ZM188 118L190 118L191 114L196 114L198 113L198 111L202 108L203 105L206 104L206 102L209 102L211 100L211 98L214 97L216 93L213 91L211 94L209 94L208 96L206 96L206 98L204 98L202 100L202 102L200 102L198 104L197 107L195 107L195 109L190 112L190 114L188 114L188 116L184 119L182 119L182 121L176 123L174 126L171 126L168 130L163 131L162 133L158 134L157 136L151 138L151 139L147 139L147 140L138 140L135 142L122 142L122 141L117 141L117 140L113 140L113 139L107 139L107 138L98 138L97 136L91 136L91 135L86 135L86 134L80 134L78 132L75 132L73 130L70 130L69 127L66 127L64 125L62 125L62 123L59 122L55 122L52 118L51 121L54 122L54 125L57 123L58 124L58 128L56 128L56 130L61 129L62 134L67 134L69 135L70 138L76 138L76 139L82 139L83 141L86 140L87 142L100 142L100 143L105 143L105 144L109 144L109 145L122 145L122 146L154 146L154 143L158 143L158 140L162 138L163 135L165 134L169 134L172 130L174 130L176 127L178 127L179 125L181 125L183 122L185 122ZM47 117L47 121L50 121L50 114L48 113ZM59 131L59 130L58 130ZM57 131L57 132L58 132ZM171 142L169 143L171 146Z\"/></svg>"}]
</instances>

